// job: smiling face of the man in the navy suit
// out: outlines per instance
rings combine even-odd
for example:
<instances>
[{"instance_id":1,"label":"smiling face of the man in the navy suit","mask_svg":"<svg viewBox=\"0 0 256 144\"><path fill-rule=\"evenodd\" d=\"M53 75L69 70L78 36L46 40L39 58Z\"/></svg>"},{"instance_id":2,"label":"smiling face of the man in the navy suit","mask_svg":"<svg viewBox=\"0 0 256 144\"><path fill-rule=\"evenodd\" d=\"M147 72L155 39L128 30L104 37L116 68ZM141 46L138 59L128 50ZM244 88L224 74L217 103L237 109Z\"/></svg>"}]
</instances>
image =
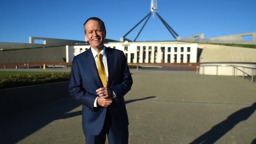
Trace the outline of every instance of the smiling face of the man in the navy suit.
<instances>
[{"instance_id":1,"label":"smiling face of the man in the navy suit","mask_svg":"<svg viewBox=\"0 0 256 144\"><path fill-rule=\"evenodd\" d=\"M100 22L96 20L89 20L85 26L85 37L89 41L91 47L102 49L106 31L103 30Z\"/></svg>"}]
</instances>

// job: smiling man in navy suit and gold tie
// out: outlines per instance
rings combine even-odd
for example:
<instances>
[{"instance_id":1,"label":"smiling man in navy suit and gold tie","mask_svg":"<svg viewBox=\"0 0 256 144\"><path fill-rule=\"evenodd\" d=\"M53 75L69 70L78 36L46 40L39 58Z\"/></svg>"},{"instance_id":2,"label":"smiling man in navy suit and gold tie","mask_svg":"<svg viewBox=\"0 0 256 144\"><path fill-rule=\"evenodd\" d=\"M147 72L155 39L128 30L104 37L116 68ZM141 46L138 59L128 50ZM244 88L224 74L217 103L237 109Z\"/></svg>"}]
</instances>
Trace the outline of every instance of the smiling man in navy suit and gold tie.
<instances>
[{"instance_id":1,"label":"smiling man in navy suit and gold tie","mask_svg":"<svg viewBox=\"0 0 256 144\"><path fill-rule=\"evenodd\" d=\"M82 125L87 144L128 144L128 116L124 95L132 77L121 50L104 46L106 28L100 18L83 24L91 48L72 62L69 93L82 103Z\"/></svg>"}]
</instances>

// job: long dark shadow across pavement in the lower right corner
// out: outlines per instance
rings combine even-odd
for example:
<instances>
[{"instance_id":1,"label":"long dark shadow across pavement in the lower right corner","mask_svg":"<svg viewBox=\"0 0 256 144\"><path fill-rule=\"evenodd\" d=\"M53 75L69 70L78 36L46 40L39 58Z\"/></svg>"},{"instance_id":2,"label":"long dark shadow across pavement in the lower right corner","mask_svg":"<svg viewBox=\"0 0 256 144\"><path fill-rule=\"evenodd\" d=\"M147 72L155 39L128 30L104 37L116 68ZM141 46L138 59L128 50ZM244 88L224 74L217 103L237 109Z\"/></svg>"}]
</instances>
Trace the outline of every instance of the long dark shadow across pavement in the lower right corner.
<instances>
[{"instance_id":1,"label":"long dark shadow across pavement in the lower right corner","mask_svg":"<svg viewBox=\"0 0 256 144\"><path fill-rule=\"evenodd\" d=\"M228 131L230 131L234 126L243 120L247 120L255 111L256 102L250 107L245 107L236 111L235 113L228 116L228 118L219 124L213 126L210 131L207 131L197 139L195 139L190 144L213 144ZM255 143L255 140L252 142Z\"/></svg>"}]
</instances>

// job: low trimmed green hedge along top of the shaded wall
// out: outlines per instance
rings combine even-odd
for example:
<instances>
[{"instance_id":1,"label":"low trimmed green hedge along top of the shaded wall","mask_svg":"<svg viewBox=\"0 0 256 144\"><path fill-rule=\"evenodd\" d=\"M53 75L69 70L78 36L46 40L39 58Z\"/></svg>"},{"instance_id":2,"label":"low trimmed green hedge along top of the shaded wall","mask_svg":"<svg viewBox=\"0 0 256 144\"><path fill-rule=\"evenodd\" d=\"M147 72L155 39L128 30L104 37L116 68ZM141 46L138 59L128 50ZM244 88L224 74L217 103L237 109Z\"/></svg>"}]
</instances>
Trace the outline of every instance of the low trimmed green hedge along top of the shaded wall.
<instances>
[{"instance_id":1,"label":"low trimmed green hedge along top of the shaded wall","mask_svg":"<svg viewBox=\"0 0 256 144\"><path fill-rule=\"evenodd\" d=\"M0 77L0 89L69 81L69 77L69 72L47 72L45 74L17 74L12 76L2 76Z\"/></svg>"}]
</instances>

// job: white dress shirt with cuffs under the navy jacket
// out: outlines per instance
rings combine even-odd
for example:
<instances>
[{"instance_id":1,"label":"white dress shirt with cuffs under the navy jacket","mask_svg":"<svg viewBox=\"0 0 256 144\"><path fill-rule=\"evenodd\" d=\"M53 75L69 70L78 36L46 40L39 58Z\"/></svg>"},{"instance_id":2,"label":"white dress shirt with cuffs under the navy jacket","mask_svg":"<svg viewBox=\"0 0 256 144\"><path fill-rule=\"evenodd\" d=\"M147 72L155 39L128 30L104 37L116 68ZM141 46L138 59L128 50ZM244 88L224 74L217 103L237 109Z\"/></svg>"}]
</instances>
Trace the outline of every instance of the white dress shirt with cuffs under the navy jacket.
<instances>
[{"instance_id":1,"label":"white dress shirt with cuffs under the navy jacket","mask_svg":"<svg viewBox=\"0 0 256 144\"><path fill-rule=\"evenodd\" d=\"M98 54L98 52L95 49L93 49L92 47L91 47L91 52L93 53L93 57L95 59L96 67L98 68L98 64L97 64L97 60L98 60L97 54ZM105 72L106 72L106 77L107 77L107 81L108 81L108 63L107 63L107 55L106 55L106 48L105 48L105 46L100 51L100 54L103 55L102 57L100 57L100 59L102 60L102 62L104 64L104 68L105 68ZM113 91L113 94L114 94L114 98L116 98L114 91ZM98 107L97 99L98 99L98 97L94 101L94 105L93 105L94 107Z\"/></svg>"}]
</instances>

